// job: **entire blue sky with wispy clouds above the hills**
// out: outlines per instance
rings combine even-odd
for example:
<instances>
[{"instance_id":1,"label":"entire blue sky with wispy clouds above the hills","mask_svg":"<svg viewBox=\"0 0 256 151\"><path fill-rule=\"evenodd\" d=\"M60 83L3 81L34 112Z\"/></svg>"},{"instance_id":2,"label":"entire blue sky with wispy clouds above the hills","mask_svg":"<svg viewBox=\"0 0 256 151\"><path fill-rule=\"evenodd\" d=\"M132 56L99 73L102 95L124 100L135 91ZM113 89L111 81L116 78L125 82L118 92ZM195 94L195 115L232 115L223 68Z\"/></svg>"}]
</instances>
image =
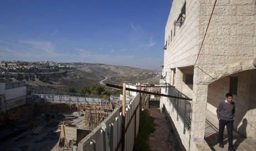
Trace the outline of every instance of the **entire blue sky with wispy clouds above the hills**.
<instances>
[{"instance_id":1,"label":"entire blue sky with wispy clouds above the hills","mask_svg":"<svg viewBox=\"0 0 256 151\"><path fill-rule=\"evenodd\" d=\"M0 60L161 69L171 0L0 0Z\"/></svg>"}]
</instances>

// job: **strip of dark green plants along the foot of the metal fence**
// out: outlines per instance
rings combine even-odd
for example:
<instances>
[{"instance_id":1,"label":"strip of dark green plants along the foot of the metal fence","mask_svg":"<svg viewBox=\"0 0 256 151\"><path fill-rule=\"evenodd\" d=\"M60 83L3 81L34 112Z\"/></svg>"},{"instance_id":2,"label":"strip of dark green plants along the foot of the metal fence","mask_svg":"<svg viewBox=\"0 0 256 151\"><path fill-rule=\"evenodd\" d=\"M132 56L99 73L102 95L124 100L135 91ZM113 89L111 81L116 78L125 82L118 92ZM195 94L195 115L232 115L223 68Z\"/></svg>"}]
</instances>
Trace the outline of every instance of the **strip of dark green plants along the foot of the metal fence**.
<instances>
[{"instance_id":1,"label":"strip of dark green plants along the foot of the metal fence","mask_svg":"<svg viewBox=\"0 0 256 151\"><path fill-rule=\"evenodd\" d=\"M135 150L150 150L148 144L148 137L150 133L155 131L153 118L150 117L149 111L144 110L140 112L140 128L139 134L135 142Z\"/></svg>"}]
</instances>

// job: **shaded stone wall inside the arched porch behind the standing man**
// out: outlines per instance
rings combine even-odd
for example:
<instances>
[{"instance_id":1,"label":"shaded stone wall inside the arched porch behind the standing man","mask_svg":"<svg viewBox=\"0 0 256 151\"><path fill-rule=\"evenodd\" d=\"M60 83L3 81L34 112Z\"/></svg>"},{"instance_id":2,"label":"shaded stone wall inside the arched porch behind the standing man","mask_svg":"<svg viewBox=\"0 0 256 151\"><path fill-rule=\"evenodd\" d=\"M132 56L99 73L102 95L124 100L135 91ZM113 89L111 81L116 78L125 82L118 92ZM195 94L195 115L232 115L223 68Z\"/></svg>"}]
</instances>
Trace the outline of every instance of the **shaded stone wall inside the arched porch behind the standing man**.
<instances>
[{"instance_id":1,"label":"shaded stone wall inside the arched porch behind the standing man","mask_svg":"<svg viewBox=\"0 0 256 151\"><path fill-rule=\"evenodd\" d=\"M231 76L238 77L237 95L233 95L233 101L236 103L234 127L242 135L255 139L256 129L253 125L256 124L256 70L231 74L209 84L207 109L216 114L219 102L225 100L225 95L229 91L227 84Z\"/></svg>"}]
</instances>

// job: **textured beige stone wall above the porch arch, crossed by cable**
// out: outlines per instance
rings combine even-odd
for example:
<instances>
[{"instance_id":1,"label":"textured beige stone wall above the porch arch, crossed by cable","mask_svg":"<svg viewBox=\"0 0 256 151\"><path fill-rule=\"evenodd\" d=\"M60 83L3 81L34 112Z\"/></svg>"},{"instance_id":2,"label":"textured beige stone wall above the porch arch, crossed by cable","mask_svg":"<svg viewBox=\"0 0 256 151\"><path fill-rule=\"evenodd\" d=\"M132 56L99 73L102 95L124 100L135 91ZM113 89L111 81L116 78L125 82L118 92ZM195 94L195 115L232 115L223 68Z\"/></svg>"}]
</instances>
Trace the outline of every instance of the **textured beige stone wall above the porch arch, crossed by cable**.
<instances>
[{"instance_id":1,"label":"textured beige stone wall above the porch arch, crossed by cable","mask_svg":"<svg viewBox=\"0 0 256 151\"><path fill-rule=\"evenodd\" d=\"M201 1L199 37L203 38L215 0ZM254 69L256 5L253 0L217 1L197 65L210 83L226 75Z\"/></svg>"}]
</instances>

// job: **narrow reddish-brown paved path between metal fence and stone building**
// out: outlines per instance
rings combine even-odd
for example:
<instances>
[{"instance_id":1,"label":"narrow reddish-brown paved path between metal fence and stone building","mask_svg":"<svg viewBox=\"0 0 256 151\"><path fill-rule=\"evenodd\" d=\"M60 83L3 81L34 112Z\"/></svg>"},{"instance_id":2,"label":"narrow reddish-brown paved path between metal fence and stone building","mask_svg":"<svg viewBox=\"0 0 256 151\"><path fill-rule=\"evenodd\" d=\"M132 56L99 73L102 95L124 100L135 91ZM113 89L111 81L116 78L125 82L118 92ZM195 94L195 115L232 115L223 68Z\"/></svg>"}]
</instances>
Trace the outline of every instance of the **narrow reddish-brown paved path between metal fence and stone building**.
<instances>
[{"instance_id":1,"label":"narrow reddish-brown paved path between metal fence and stone building","mask_svg":"<svg viewBox=\"0 0 256 151\"><path fill-rule=\"evenodd\" d=\"M155 127L155 131L149 136L150 149L152 151L180 150L170 123L165 118L165 114L160 113L159 103L151 102L149 104L149 113L154 118Z\"/></svg>"}]
</instances>

